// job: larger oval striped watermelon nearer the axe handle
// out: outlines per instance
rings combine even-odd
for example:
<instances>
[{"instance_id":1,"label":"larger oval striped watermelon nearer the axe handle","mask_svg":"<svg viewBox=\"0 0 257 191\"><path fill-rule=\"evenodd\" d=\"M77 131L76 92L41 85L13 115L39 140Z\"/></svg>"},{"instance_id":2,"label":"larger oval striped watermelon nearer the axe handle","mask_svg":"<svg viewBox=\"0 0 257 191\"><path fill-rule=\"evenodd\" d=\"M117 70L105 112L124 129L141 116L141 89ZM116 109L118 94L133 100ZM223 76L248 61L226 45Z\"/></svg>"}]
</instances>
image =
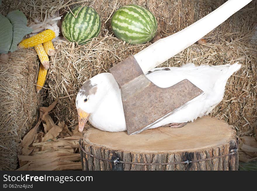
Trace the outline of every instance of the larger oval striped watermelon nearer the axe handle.
<instances>
[{"instance_id":1,"label":"larger oval striped watermelon nearer the axe handle","mask_svg":"<svg viewBox=\"0 0 257 191\"><path fill-rule=\"evenodd\" d=\"M130 44L151 41L157 32L156 18L139 5L119 8L112 16L111 25L115 36Z\"/></svg>"}]
</instances>

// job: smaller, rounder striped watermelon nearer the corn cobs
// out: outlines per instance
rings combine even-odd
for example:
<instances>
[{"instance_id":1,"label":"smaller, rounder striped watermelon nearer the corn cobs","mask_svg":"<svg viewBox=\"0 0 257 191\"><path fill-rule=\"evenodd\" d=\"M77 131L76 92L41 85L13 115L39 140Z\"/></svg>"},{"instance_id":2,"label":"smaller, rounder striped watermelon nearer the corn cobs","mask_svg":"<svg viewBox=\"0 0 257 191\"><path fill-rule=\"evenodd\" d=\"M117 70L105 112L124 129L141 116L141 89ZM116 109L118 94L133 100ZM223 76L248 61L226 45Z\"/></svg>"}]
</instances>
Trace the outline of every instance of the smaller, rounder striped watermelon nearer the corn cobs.
<instances>
[{"instance_id":1,"label":"smaller, rounder striped watermelon nearer the corn cobs","mask_svg":"<svg viewBox=\"0 0 257 191\"><path fill-rule=\"evenodd\" d=\"M78 14L77 18L72 13ZM93 8L78 6L72 9L72 13L67 13L62 21L62 34L68 41L84 45L88 39L98 36L101 21Z\"/></svg>"}]
</instances>

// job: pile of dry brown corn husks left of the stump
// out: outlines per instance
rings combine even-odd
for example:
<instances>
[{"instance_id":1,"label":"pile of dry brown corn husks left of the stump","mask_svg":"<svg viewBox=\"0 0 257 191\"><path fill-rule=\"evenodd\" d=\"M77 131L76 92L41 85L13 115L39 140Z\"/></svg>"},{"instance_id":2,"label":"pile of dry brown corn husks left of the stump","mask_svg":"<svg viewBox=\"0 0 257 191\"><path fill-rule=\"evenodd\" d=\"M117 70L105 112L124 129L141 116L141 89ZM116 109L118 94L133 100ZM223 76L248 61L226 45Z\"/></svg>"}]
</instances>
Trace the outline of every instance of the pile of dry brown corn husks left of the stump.
<instances>
[{"instance_id":1,"label":"pile of dry brown corn husks left of the stump","mask_svg":"<svg viewBox=\"0 0 257 191\"><path fill-rule=\"evenodd\" d=\"M78 128L70 131L65 122L57 125L48 113L58 99L49 107L40 108L40 120L22 139L18 154L18 170L79 170L82 169L79 154ZM41 131L39 126L43 122Z\"/></svg>"}]
</instances>

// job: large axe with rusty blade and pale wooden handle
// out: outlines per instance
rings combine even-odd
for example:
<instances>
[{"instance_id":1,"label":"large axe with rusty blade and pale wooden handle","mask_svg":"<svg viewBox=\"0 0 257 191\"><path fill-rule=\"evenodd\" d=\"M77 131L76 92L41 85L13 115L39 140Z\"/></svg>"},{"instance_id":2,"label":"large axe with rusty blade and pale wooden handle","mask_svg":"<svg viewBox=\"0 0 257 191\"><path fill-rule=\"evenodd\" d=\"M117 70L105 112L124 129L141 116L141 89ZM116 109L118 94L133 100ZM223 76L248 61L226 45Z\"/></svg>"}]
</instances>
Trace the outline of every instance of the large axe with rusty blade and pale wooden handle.
<instances>
[{"instance_id":1,"label":"large axe with rusty blade and pale wooden handle","mask_svg":"<svg viewBox=\"0 0 257 191\"><path fill-rule=\"evenodd\" d=\"M156 41L110 68L121 90L128 134L152 127L204 93L186 79L160 88L148 80L145 73L197 42L249 2L251 0L228 0L185 29Z\"/></svg>"}]
</instances>

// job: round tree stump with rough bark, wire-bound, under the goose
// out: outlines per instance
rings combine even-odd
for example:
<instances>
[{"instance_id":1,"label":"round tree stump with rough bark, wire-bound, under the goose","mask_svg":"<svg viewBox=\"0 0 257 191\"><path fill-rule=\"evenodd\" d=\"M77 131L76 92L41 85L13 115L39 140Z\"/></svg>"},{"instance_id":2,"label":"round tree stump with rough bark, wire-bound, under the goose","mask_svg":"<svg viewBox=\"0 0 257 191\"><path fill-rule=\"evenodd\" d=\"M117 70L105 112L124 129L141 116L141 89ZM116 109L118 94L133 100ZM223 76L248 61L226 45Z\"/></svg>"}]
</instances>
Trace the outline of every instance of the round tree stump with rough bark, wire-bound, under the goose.
<instances>
[{"instance_id":1,"label":"round tree stump with rough bark, wire-bound, under the goose","mask_svg":"<svg viewBox=\"0 0 257 191\"><path fill-rule=\"evenodd\" d=\"M181 128L159 127L136 135L89 127L79 143L82 168L238 170L237 138L231 127L211 117L198 118Z\"/></svg>"}]
</instances>

